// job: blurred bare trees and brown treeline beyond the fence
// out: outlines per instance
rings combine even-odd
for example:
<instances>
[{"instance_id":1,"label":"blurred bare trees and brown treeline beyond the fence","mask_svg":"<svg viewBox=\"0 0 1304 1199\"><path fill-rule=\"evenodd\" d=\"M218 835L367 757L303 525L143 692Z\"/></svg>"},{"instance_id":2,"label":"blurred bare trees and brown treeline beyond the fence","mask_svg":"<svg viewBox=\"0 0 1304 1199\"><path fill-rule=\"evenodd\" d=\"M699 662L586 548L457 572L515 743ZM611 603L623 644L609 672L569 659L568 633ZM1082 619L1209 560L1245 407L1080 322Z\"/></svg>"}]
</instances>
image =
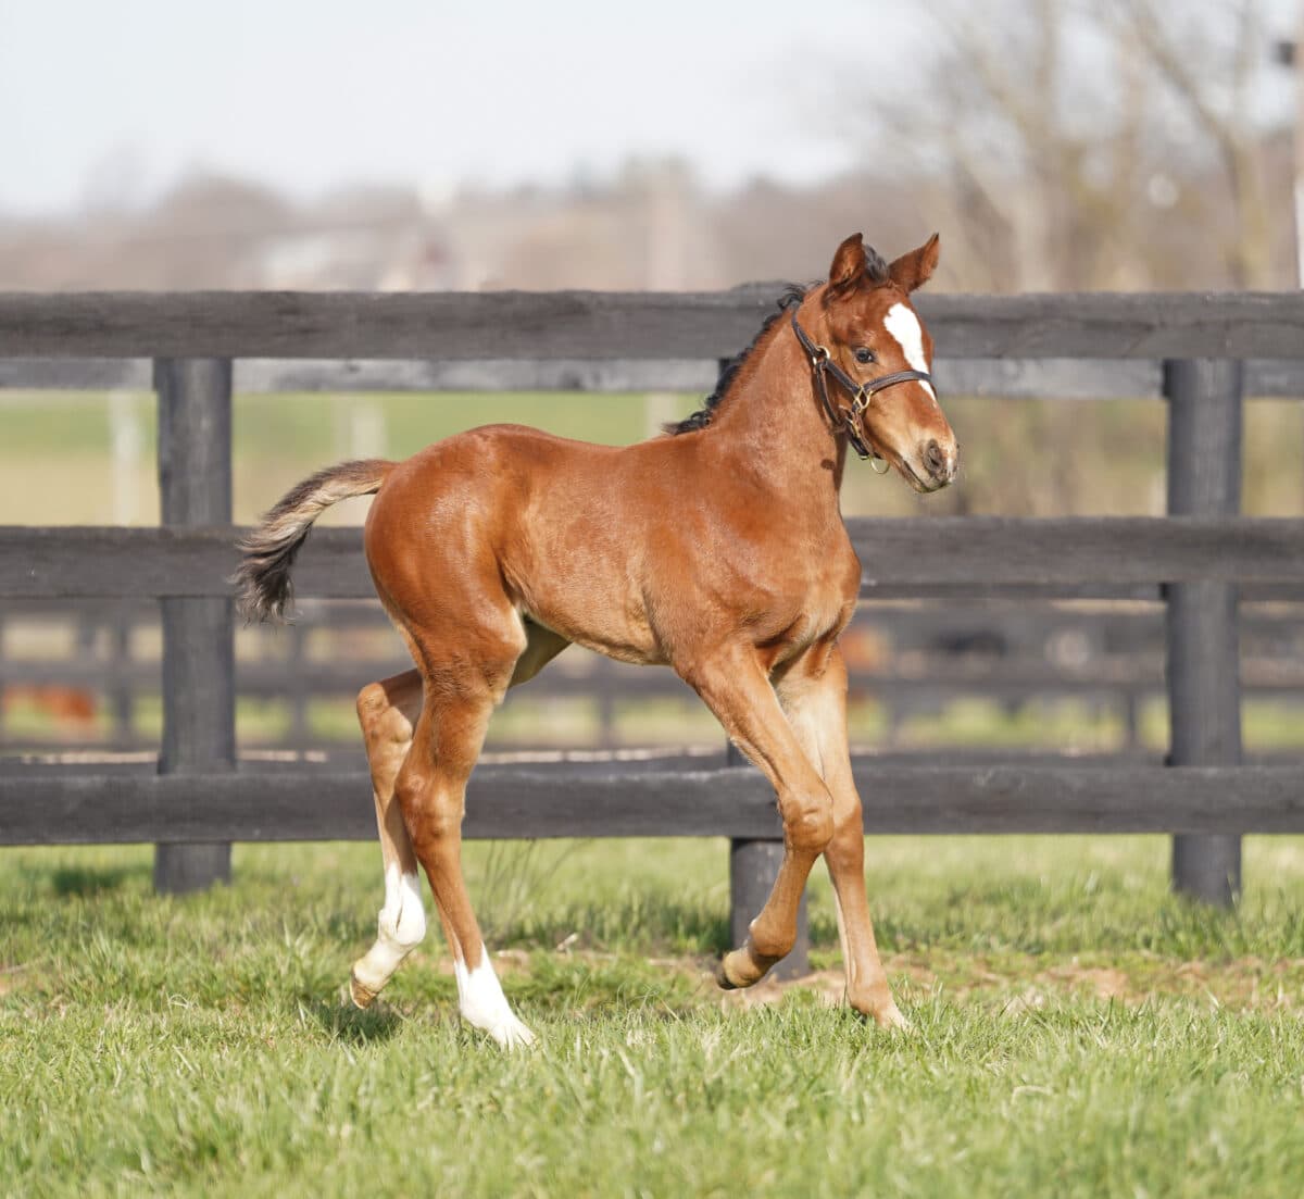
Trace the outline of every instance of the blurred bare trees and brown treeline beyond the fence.
<instances>
[{"instance_id":1,"label":"blurred bare trees and brown treeline beyond the fence","mask_svg":"<svg viewBox=\"0 0 1304 1199\"><path fill-rule=\"evenodd\" d=\"M197 168L150 198L120 146L76 213L0 214L0 287L719 288L819 277L857 228L889 254L940 230L932 290L1291 287L1296 106L1269 9L932 0L910 55L849 39L784 64L784 110L855 164L799 185L712 190L651 157L549 187L359 181L310 200ZM918 506L853 476L850 510L1162 506L1162 404L949 404L964 484ZM1299 444L1296 406L1248 416L1247 511L1297 510L1299 455L1260 468Z\"/></svg>"}]
</instances>

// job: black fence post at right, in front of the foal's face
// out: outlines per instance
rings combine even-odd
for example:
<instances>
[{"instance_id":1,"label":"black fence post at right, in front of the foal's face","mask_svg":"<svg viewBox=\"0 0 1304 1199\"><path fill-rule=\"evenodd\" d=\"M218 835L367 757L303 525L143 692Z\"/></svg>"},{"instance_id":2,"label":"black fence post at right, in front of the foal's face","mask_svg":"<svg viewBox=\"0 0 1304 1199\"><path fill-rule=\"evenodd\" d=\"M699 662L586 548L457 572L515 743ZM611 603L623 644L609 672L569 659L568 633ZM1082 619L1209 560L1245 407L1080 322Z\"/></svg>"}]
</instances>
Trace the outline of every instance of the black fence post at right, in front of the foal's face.
<instances>
[{"instance_id":1,"label":"black fence post at right, in front of the foal's face","mask_svg":"<svg viewBox=\"0 0 1304 1199\"><path fill-rule=\"evenodd\" d=\"M1226 359L1164 363L1168 401L1168 514L1240 511L1243 367ZM1168 728L1171 766L1235 766L1241 759L1236 584L1170 583ZM1235 802L1235 796L1227 797ZM1219 905L1240 892L1240 836L1172 839L1174 890Z\"/></svg>"}]
</instances>

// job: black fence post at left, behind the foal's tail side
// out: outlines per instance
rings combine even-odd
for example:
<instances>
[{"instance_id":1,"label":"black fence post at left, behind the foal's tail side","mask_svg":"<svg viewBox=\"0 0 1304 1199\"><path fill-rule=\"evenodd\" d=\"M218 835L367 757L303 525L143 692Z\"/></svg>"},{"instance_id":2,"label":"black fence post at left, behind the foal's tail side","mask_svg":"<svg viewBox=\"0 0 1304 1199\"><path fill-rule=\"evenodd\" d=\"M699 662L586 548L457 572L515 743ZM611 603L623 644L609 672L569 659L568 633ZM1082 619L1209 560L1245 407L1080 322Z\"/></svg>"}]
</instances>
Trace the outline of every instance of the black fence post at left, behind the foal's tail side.
<instances>
[{"instance_id":1,"label":"black fence post at left, behind the foal's tail side","mask_svg":"<svg viewBox=\"0 0 1304 1199\"><path fill-rule=\"evenodd\" d=\"M231 523L231 361L158 359L159 497L164 524ZM235 645L227 598L163 599L160 774L235 770ZM156 845L158 891L231 878L231 845Z\"/></svg>"}]
</instances>

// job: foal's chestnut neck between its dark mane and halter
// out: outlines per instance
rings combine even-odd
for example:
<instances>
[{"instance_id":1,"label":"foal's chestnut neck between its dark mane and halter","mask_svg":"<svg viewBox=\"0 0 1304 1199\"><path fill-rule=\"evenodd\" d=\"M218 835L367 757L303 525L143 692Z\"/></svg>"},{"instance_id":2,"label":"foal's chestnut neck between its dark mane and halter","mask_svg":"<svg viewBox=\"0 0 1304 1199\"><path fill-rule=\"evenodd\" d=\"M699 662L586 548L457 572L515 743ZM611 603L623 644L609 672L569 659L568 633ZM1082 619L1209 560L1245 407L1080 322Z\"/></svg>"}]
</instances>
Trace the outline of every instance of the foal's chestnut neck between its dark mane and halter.
<instances>
[{"instance_id":1,"label":"foal's chestnut neck between its dark mane and halter","mask_svg":"<svg viewBox=\"0 0 1304 1199\"><path fill-rule=\"evenodd\" d=\"M756 346L707 432L732 474L812 511L837 511L846 438L835 434L815 395L810 363L785 316Z\"/></svg>"}]
</instances>

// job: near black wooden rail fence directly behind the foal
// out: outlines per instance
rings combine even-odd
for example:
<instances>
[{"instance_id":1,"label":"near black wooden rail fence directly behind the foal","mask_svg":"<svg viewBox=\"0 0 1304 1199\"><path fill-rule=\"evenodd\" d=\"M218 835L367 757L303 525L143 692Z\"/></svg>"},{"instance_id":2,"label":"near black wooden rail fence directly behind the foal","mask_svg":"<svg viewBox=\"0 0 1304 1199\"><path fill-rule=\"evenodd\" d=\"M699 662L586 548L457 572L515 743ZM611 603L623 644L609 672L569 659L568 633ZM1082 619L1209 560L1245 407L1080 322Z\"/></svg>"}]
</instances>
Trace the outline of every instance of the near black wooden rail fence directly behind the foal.
<instances>
[{"instance_id":1,"label":"near black wooden rail fence directly behind the foal","mask_svg":"<svg viewBox=\"0 0 1304 1199\"><path fill-rule=\"evenodd\" d=\"M0 598L158 599L158 776L0 778L0 843L155 842L160 886L220 848L370 836L361 774L236 774L231 393L702 389L776 288L711 295L0 295L0 386L153 386L158 528L0 530ZM1226 899L1239 835L1304 831L1304 766L1244 766L1237 595L1297 599L1304 519L1239 515L1241 401L1304 395L1304 295L925 296L945 391L1162 397L1168 517L852 521L862 595L1162 599L1171 766L857 763L867 832L1174 832L1175 882ZM369 596L356 530L314 534L305 596ZM472 838L721 835L735 911L780 836L750 770L485 767ZM751 853L748 847L755 847Z\"/></svg>"}]
</instances>

